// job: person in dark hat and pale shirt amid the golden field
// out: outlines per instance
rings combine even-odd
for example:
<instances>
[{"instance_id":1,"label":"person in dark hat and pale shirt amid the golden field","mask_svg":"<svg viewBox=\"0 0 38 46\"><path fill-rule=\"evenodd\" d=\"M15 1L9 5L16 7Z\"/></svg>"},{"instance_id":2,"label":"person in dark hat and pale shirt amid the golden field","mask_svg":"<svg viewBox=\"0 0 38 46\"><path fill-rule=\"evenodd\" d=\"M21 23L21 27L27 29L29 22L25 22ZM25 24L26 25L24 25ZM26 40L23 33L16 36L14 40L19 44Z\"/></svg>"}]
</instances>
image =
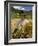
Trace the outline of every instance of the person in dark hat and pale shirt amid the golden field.
<instances>
[{"instance_id":1,"label":"person in dark hat and pale shirt amid the golden field","mask_svg":"<svg viewBox=\"0 0 38 46\"><path fill-rule=\"evenodd\" d=\"M18 36L18 37L21 37L21 38L27 38L27 34L24 34L25 33L25 26L27 23L29 23L29 21L27 19L25 19L25 14L24 12L22 11L21 15L20 15L20 19L16 22L16 28L14 30L14 34L18 31L20 32L21 30L21 36ZM19 29L20 28L20 29ZM16 37L16 34L14 35Z\"/></svg>"}]
</instances>

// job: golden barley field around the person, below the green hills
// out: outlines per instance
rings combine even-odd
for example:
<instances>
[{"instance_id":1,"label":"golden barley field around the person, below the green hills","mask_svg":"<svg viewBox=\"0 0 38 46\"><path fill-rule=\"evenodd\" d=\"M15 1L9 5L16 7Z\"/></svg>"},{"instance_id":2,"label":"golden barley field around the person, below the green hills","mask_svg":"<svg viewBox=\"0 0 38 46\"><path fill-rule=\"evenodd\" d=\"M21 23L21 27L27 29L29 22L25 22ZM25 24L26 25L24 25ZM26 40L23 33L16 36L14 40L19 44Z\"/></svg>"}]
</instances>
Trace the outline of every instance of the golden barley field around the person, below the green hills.
<instances>
[{"instance_id":1,"label":"golden barley field around the person, below the green hills","mask_svg":"<svg viewBox=\"0 0 38 46\"><path fill-rule=\"evenodd\" d=\"M19 29L15 32L15 28L16 28L16 22L18 21L19 19L12 19L11 20L11 33L12 33L12 38L32 38L32 20L28 20L28 19L25 19L26 20L26 24L20 29L20 26L19 26Z\"/></svg>"}]
</instances>

